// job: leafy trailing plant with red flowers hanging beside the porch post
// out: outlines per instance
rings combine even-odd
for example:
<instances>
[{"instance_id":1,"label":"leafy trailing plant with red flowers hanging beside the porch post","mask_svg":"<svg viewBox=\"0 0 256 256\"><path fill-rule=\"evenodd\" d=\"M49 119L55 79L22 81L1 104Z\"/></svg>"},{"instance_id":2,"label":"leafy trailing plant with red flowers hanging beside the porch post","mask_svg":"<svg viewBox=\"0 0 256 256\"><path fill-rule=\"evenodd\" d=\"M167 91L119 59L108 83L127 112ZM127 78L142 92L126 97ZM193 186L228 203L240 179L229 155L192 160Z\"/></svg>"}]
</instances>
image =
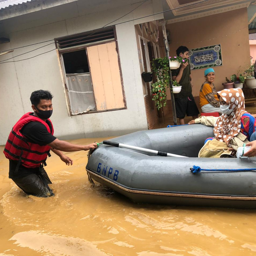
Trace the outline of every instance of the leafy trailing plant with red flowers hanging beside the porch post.
<instances>
[{"instance_id":1,"label":"leafy trailing plant with red flowers hanging beside the porch post","mask_svg":"<svg viewBox=\"0 0 256 256\"><path fill-rule=\"evenodd\" d=\"M156 65L157 63L157 65ZM158 81L151 85L152 100L155 102L157 110L166 106L166 88L169 87L169 60L167 57L153 59L152 70L157 75Z\"/></svg>"}]
</instances>

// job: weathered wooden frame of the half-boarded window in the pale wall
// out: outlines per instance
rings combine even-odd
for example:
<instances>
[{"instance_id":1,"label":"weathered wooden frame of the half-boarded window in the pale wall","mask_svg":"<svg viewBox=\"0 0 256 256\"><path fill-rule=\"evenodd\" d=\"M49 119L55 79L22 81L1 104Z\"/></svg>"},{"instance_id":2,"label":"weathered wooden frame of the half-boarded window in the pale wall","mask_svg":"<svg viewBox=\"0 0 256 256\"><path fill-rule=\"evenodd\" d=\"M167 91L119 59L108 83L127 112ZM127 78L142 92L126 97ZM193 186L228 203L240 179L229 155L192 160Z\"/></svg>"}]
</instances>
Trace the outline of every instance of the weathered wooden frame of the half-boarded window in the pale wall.
<instances>
[{"instance_id":1,"label":"weathered wooden frame of the half-boarded window in the pale wall","mask_svg":"<svg viewBox=\"0 0 256 256\"><path fill-rule=\"evenodd\" d=\"M115 26L113 26L113 31L114 31L114 38L105 39L105 40L98 41L98 42L86 43L86 44L77 45L77 46L71 46L71 47L62 48L62 49L58 48L58 44L56 42L58 40L58 38L55 38L55 45L56 45L56 48L57 48L56 52L57 52L58 65L59 65L59 70L60 70L60 74L61 74L62 87L63 87L63 90L64 90L65 101L66 101L66 106L67 106L67 112L68 112L68 116L69 117L76 116L76 115L90 114L90 113L99 113L99 112L107 112L107 111L115 111L115 110L127 109L125 90L124 90L124 87L123 87L123 76L122 76L122 70L121 70L121 62L120 62L120 57L119 57L119 49L118 49L118 42L117 42L117 35L116 35ZM74 35L79 35L79 34L74 34ZM70 36L72 36L72 35L70 35ZM72 114L71 113L71 108L70 108L69 95L68 95L67 80L66 80L67 76L66 76L65 65L64 65L64 60L63 60L63 53L79 51L79 50L85 50L86 51L86 58L87 58L88 66L89 66L89 73L90 73L90 77L91 77L91 68L90 68L90 63L89 63L89 59L88 59L88 55L87 55L87 47L95 46L95 45L101 45L101 44L105 44L105 43L111 43L111 42L115 42L115 45L116 45L117 57L118 57L118 66L119 66L119 74L120 74L120 80L121 80L121 88L122 88L122 93L123 93L124 107L117 108L117 109L91 110L91 111L88 111L86 113L79 113L79 114L75 114L75 115ZM92 81L92 77L91 77L91 81ZM92 82L92 89L93 89L94 102L95 102L95 106L96 106L93 82Z\"/></svg>"}]
</instances>

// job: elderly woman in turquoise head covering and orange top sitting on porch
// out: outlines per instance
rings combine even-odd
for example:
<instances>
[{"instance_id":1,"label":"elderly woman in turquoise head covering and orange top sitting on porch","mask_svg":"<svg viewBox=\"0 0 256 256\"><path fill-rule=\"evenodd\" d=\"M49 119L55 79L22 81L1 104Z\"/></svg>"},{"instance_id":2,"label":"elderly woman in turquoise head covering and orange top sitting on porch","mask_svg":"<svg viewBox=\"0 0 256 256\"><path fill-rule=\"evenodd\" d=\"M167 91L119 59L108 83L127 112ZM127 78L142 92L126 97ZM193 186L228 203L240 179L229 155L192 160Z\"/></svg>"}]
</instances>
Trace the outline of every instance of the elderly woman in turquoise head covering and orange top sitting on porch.
<instances>
[{"instance_id":1,"label":"elderly woman in turquoise head covering and orange top sitting on porch","mask_svg":"<svg viewBox=\"0 0 256 256\"><path fill-rule=\"evenodd\" d=\"M219 112L221 113L219 106L220 102L217 97L217 92L214 86L215 73L214 69L205 70L205 82L202 84L199 98L200 98L200 107L202 112Z\"/></svg>"}]
</instances>

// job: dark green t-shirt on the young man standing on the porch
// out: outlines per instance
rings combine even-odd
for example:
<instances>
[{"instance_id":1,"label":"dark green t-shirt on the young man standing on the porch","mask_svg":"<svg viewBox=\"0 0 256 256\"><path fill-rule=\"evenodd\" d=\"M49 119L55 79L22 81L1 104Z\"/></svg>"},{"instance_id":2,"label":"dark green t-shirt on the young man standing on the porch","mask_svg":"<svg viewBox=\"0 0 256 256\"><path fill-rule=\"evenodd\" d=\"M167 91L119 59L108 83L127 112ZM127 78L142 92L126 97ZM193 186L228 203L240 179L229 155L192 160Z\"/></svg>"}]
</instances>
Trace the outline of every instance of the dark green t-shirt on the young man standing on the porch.
<instances>
[{"instance_id":1,"label":"dark green t-shirt on the young man standing on the porch","mask_svg":"<svg viewBox=\"0 0 256 256\"><path fill-rule=\"evenodd\" d=\"M182 66L182 64L181 64ZM178 69L171 70L171 75L176 76L179 74L179 71L181 70L181 66ZM181 87L180 93L174 93L174 98L186 98L192 93L192 88L190 85L190 65L187 65L185 69L183 70L181 80L179 81L179 84Z\"/></svg>"}]
</instances>

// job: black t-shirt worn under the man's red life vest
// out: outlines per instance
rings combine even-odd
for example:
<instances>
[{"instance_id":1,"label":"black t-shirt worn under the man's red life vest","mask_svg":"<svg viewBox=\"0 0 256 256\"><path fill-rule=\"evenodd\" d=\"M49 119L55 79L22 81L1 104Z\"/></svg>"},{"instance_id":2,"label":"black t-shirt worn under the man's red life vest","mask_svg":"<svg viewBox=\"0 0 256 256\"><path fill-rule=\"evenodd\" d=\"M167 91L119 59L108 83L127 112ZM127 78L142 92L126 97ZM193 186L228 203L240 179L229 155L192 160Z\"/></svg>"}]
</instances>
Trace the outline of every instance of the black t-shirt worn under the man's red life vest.
<instances>
[{"instance_id":1,"label":"black t-shirt worn under the man's red life vest","mask_svg":"<svg viewBox=\"0 0 256 256\"><path fill-rule=\"evenodd\" d=\"M33 113L31 113L31 115L33 115ZM51 123L48 119L46 120L46 123L49 125L50 131L52 132ZM56 139L56 137L47 131L45 125L40 122L32 121L27 123L22 127L21 133L26 137L28 142L36 143L40 146L45 146ZM22 164L20 164L18 172L15 172L17 164L18 161L10 160L9 178L20 178L38 172L39 167L26 168L22 166Z\"/></svg>"}]
</instances>

